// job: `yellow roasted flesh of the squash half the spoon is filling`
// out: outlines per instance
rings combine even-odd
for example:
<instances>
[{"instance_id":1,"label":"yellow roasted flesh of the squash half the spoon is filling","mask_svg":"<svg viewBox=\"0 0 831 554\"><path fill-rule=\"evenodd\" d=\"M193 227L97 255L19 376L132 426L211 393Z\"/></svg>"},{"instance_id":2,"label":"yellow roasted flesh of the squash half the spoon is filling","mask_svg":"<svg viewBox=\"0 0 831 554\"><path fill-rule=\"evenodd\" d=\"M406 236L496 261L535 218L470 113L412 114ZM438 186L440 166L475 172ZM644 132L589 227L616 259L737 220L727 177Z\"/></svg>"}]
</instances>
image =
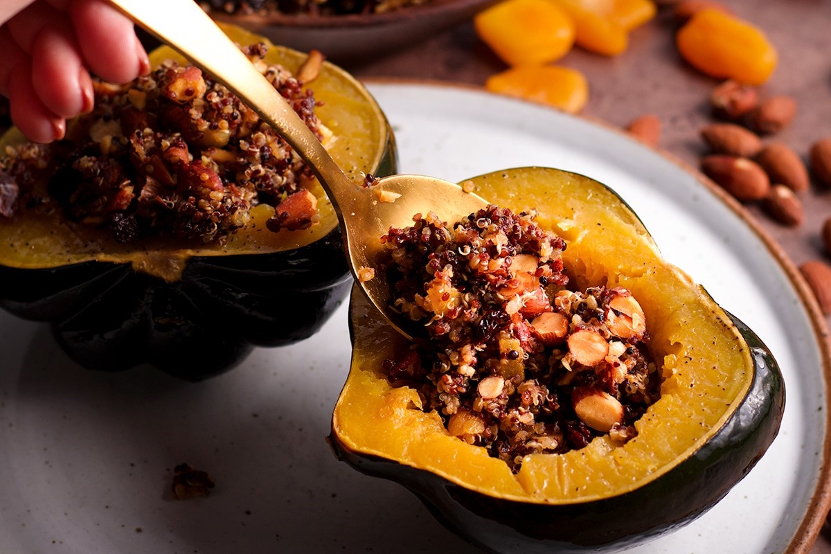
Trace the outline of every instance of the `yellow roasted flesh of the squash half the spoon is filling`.
<instances>
[{"instance_id":1,"label":"yellow roasted flesh of the squash half the spoon is filling","mask_svg":"<svg viewBox=\"0 0 831 554\"><path fill-rule=\"evenodd\" d=\"M636 423L637 437L606 437L565 454L529 454L519 473L447 433L421 409L416 390L394 388L381 370L406 343L363 298L352 295L352 370L332 436L359 456L434 473L489 497L522 503L587 503L642 488L701 449L745 399L754 378L750 346L730 316L677 267L616 194L578 174L525 168L472 179L475 191L568 243L563 261L578 288L626 287L646 313L661 366L661 399Z\"/></svg>"}]
</instances>

